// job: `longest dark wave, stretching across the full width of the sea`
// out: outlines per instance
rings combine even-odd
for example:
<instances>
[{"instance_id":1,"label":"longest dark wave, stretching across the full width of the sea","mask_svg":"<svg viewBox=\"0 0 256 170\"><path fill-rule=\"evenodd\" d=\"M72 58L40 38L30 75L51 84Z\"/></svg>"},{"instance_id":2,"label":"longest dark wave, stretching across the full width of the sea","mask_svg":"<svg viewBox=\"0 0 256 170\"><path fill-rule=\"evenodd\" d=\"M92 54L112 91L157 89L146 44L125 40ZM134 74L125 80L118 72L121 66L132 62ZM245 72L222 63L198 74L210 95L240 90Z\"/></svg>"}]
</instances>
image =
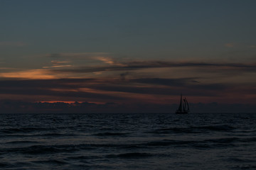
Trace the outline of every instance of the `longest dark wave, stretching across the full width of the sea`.
<instances>
[{"instance_id":1,"label":"longest dark wave, stretching across the full width of the sea","mask_svg":"<svg viewBox=\"0 0 256 170\"><path fill-rule=\"evenodd\" d=\"M19 143L21 141L13 141L9 143ZM31 142L33 141L23 141ZM95 148L119 148L119 149L142 149L148 147L196 147L196 148L218 148L218 147L235 147L241 142L250 145L250 142L256 142L256 137L227 137L207 140L157 140L141 143L118 143L118 144L78 144L78 145L32 145L29 147L14 147L0 149L1 152L10 153L18 152L22 154L52 154L59 152L77 152L84 149ZM22 142L21 142L22 143ZM128 154L129 155L129 154ZM125 155L124 155L125 157ZM127 156L128 157L128 156Z\"/></svg>"}]
</instances>

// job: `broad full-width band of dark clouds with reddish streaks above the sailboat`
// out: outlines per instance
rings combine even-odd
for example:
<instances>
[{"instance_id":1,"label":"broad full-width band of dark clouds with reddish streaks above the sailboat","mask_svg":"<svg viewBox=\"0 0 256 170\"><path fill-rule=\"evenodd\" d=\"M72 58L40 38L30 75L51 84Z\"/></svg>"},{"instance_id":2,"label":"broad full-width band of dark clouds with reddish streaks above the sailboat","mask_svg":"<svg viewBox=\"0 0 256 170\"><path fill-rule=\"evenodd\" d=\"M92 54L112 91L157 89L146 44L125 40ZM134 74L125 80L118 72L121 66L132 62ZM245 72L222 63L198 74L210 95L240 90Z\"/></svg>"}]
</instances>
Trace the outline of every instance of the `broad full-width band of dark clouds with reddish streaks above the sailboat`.
<instances>
[{"instance_id":1,"label":"broad full-width band of dark clouds with reddish streaks above the sailboat","mask_svg":"<svg viewBox=\"0 0 256 170\"><path fill-rule=\"evenodd\" d=\"M9 96L30 98L31 101L170 103L181 92L193 98L194 102L253 103L253 98L256 97L254 84L203 82L196 77L0 80L0 99Z\"/></svg>"}]
</instances>

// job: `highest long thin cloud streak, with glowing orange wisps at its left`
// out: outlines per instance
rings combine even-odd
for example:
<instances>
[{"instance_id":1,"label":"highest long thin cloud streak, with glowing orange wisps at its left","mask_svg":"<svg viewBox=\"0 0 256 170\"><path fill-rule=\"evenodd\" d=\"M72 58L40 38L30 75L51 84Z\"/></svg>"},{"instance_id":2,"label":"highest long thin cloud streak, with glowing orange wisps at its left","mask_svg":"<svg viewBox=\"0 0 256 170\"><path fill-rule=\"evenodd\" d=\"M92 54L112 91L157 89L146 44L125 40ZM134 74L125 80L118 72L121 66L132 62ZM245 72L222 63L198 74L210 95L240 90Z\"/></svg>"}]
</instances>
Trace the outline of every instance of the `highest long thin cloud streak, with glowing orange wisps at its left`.
<instances>
[{"instance_id":1,"label":"highest long thin cloud streak, with glowing orange wisps at its left","mask_svg":"<svg viewBox=\"0 0 256 170\"><path fill-rule=\"evenodd\" d=\"M231 46L228 43L227 46ZM53 74L84 74L100 72L129 72L139 69L156 69L156 68L175 68L186 67L191 69L225 69L238 70L241 72L255 72L255 63L235 63L235 62L181 62L181 61L122 61L117 60L107 52L63 52L48 54L47 57L54 57L53 66L43 67L51 70ZM72 62L71 64L67 64ZM70 67L70 68L60 68ZM120 73L119 73L120 74Z\"/></svg>"}]
</instances>

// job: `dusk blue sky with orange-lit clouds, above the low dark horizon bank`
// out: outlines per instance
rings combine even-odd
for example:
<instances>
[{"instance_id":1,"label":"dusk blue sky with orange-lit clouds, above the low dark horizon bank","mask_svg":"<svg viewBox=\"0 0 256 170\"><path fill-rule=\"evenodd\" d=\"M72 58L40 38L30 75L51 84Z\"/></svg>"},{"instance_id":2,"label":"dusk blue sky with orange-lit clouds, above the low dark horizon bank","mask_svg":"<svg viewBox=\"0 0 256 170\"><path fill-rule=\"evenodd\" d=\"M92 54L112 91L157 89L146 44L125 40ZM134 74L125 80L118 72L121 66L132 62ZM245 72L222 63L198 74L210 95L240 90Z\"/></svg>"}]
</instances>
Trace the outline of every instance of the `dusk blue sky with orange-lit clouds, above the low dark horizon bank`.
<instances>
[{"instance_id":1,"label":"dusk blue sky with orange-lit clouds, above the low dark horizon bank","mask_svg":"<svg viewBox=\"0 0 256 170\"><path fill-rule=\"evenodd\" d=\"M256 106L255 6L1 0L0 101Z\"/></svg>"}]
</instances>

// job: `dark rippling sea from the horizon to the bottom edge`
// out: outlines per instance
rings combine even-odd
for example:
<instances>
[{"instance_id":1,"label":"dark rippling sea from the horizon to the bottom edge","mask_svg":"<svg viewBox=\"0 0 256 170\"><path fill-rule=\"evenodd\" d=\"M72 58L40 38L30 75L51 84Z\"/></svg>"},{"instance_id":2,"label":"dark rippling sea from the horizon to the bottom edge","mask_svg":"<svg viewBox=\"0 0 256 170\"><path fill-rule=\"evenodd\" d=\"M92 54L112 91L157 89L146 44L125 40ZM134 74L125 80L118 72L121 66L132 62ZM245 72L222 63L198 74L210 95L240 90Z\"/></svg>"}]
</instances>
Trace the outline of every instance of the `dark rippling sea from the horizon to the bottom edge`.
<instances>
[{"instance_id":1,"label":"dark rippling sea from the horizon to the bottom edge","mask_svg":"<svg viewBox=\"0 0 256 170\"><path fill-rule=\"evenodd\" d=\"M0 169L256 169L256 114L1 114Z\"/></svg>"}]
</instances>

